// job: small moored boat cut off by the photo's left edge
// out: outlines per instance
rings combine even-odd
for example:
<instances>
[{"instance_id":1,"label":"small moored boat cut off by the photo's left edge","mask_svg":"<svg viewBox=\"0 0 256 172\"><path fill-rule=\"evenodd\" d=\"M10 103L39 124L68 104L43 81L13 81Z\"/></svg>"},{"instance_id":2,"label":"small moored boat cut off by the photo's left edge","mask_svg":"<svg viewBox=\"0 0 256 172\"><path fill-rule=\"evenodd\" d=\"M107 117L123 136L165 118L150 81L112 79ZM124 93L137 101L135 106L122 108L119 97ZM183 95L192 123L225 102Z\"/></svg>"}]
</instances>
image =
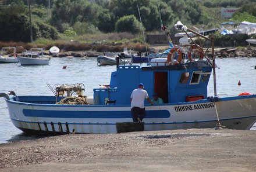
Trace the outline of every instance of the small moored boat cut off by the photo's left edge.
<instances>
[{"instance_id":1,"label":"small moored boat cut off by the photo's left edge","mask_svg":"<svg viewBox=\"0 0 256 172\"><path fill-rule=\"evenodd\" d=\"M18 63L19 60L16 56L16 47L2 47L0 54L0 63Z\"/></svg>"}]
</instances>

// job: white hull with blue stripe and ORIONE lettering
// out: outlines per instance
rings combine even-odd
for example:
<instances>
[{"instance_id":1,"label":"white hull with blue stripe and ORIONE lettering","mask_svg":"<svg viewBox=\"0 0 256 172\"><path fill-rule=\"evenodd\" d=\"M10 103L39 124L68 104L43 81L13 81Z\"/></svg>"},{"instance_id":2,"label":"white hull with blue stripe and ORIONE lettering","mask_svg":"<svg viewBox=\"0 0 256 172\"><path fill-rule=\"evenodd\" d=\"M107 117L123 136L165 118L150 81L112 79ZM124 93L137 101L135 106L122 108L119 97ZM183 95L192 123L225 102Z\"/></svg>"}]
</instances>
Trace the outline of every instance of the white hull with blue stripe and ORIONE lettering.
<instances>
[{"instance_id":1,"label":"white hull with blue stripe and ORIONE lettering","mask_svg":"<svg viewBox=\"0 0 256 172\"><path fill-rule=\"evenodd\" d=\"M58 105L52 104L55 97L35 97L37 103L33 96L6 100L13 124L29 133L117 133L116 123L132 122L127 105ZM219 98L216 103L199 100L147 105L145 131L213 128L217 122L215 105L222 126L250 129L256 122L256 95L237 96Z\"/></svg>"}]
</instances>

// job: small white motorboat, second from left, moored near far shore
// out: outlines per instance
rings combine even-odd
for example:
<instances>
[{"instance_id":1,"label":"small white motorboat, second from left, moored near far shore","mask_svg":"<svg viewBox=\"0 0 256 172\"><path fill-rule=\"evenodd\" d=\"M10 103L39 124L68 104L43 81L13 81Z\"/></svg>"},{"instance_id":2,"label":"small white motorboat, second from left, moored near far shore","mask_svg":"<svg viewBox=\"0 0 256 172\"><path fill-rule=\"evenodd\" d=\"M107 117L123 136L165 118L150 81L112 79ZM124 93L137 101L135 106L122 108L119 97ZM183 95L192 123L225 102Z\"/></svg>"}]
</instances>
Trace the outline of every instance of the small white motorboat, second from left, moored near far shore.
<instances>
[{"instance_id":1,"label":"small white motorboat, second from left, moored near far shore","mask_svg":"<svg viewBox=\"0 0 256 172\"><path fill-rule=\"evenodd\" d=\"M42 48L31 48L23 52L19 57L20 65L46 65L51 58L45 57Z\"/></svg>"}]
</instances>

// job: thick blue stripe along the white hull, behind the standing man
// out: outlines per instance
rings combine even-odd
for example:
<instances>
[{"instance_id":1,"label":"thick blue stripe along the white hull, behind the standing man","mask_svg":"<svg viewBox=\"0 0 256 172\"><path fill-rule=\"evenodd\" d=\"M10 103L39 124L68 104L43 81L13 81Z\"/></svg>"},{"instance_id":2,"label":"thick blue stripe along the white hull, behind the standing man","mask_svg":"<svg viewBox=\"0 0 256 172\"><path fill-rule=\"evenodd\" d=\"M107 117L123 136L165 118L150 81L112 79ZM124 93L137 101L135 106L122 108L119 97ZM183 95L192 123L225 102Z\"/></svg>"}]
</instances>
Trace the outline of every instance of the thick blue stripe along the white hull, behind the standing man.
<instances>
[{"instance_id":1,"label":"thick blue stripe along the white hull, behind the standing man","mask_svg":"<svg viewBox=\"0 0 256 172\"><path fill-rule=\"evenodd\" d=\"M23 109L23 114L37 118L131 118L130 111L49 111ZM145 118L170 118L168 110L147 111Z\"/></svg>"}]
</instances>

